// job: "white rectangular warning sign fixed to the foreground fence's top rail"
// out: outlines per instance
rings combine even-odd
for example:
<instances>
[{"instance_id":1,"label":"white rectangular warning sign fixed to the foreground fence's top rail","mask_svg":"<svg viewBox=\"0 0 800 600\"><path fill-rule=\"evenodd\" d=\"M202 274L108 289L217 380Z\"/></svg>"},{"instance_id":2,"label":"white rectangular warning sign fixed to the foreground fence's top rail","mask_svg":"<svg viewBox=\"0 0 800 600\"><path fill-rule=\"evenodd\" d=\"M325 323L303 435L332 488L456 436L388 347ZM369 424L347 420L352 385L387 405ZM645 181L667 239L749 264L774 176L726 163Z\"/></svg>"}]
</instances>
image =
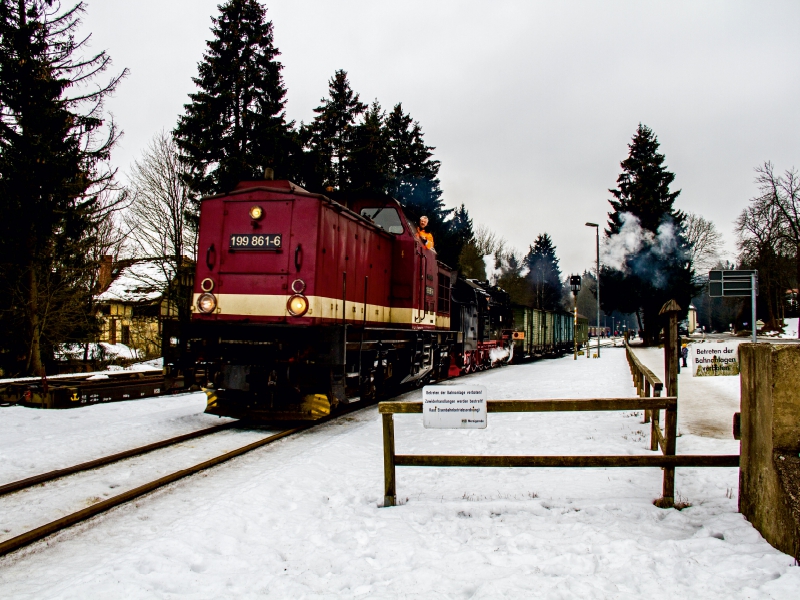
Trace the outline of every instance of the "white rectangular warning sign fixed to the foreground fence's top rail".
<instances>
[{"instance_id":1,"label":"white rectangular warning sign fixed to the foreground fence's top rail","mask_svg":"<svg viewBox=\"0 0 800 600\"><path fill-rule=\"evenodd\" d=\"M486 401L482 385L426 385L422 422L426 429L486 429Z\"/></svg>"}]
</instances>

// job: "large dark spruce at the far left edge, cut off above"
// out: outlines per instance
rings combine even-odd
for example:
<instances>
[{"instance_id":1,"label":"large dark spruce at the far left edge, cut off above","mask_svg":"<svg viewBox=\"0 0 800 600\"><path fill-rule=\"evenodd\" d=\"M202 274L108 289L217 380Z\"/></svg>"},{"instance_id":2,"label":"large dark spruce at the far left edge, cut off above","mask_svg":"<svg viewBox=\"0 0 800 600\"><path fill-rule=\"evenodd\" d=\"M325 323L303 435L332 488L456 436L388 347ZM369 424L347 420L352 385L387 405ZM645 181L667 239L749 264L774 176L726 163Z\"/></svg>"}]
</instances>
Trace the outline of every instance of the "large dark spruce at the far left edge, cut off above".
<instances>
[{"instance_id":1,"label":"large dark spruce at the far left edge, cut off above","mask_svg":"<svg viewBox=\"0 0 800 600\"><path fill-rule=\"evenodd\" d=\"M81 56L84 5L0 0L0 362L44 374L64 342L93 331L89 258L119 133L103 101L105 52ZM108 206L106 206L108 208Z\"/></svg>"}]
</instances>

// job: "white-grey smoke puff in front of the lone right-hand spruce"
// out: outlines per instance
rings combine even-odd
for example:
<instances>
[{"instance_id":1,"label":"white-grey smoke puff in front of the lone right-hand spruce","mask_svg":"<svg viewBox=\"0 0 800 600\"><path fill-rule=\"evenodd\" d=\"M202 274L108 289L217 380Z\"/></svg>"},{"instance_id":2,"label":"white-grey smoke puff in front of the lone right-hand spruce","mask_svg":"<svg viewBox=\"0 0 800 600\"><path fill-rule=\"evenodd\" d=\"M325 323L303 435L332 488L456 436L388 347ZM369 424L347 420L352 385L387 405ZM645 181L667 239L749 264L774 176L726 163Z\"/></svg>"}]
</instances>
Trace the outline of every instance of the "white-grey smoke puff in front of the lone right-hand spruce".
<instances>
[{"instance_id":1,"label":"white-grey smoke puff in front of the lone right-hand spruce","mask_svg":"<svg viewBox=\"0 0 800 600\"><path fill-rule=\"evenodd\" d=\"M625 274L650 279L656 286L663 284L659 271L660 260L673 258L679 252L679 232L672 220L664 221L656 233L644 229L639 218L631 213L620 213L619 233L606 238L600 252L600 261Z\"/></svg>"}]
</instances>

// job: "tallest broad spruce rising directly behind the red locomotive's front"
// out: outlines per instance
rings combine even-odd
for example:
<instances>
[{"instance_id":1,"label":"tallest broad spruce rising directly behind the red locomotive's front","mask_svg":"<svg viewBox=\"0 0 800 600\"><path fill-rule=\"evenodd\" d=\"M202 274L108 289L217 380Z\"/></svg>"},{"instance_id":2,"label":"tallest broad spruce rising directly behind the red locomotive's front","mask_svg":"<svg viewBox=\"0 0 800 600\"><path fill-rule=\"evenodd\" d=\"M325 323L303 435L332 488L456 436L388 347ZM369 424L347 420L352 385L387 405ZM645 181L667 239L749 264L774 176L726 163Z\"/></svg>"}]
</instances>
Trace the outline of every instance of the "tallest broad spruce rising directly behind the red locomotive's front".
<instances>
[{"instance_id":1,"label":"tallest broad spruce rising directly behind the red locomotive's front","mask_svg":"<svg viewBox=\"0 0 800 600\"><path fill-rule=\"evenodd\" d=\"M195 196L232 190L264 169L296 178L300 148L287 123L286 88L272 22L258 0L228 0L173 134Z\"/></svg>"}]
</instances>

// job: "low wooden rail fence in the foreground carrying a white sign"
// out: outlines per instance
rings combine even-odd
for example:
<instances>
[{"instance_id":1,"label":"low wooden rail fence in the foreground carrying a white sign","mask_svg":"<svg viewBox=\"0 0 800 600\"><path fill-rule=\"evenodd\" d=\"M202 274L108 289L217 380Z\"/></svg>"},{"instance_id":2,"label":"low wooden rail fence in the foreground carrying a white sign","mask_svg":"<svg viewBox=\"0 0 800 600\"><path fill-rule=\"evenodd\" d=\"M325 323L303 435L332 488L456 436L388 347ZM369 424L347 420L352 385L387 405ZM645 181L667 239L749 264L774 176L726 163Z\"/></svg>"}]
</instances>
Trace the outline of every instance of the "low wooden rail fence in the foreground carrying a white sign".
<instances>
[{"instance_id":1,"label":"low wooden rail fence in the foreground carrying a white sign","mask_svg":"<svg viewBox=\"0 0 800 600\"><path fill-rule=\"evenodd\" d=\"M651 387L653 387L652 383ZM381 402L378 404L378 411L383 417L384 506L394 506L396 503L396 467L662 467L664 478L662 497L659 499L658 505L666 508L674 504L675 467L736 467L739 465L738 455L675 454L678 410L678 399L675 397L489 400L486 408L490 413L646 410L651 411L653 415L665 410L666 429L664 433L662 434L660 428L656 427L660 440L657 443L661 448L662 455L443 456L395 454L394 415L422 413L422 402Z\"/></svg>"}]
</instances>

